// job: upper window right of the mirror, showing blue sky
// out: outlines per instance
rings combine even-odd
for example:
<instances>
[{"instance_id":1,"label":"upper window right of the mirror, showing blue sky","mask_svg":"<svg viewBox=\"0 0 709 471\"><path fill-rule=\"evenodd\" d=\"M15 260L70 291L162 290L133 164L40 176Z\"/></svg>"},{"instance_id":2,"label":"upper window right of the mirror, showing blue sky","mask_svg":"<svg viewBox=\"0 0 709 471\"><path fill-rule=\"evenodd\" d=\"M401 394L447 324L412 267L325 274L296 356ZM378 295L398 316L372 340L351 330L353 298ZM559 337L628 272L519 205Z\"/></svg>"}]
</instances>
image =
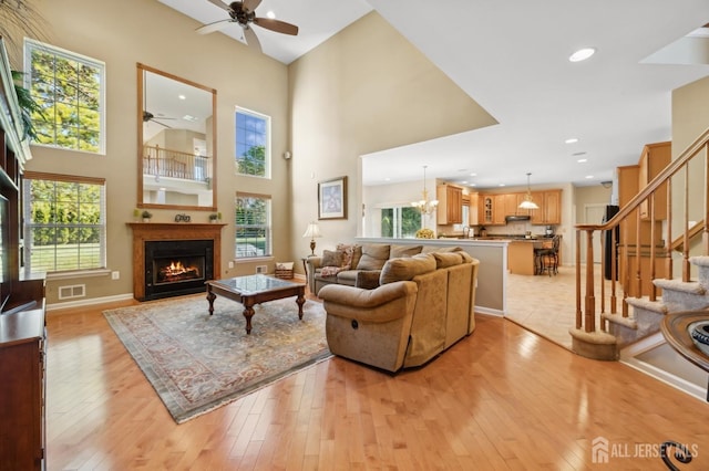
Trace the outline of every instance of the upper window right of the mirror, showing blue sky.
<instances>
[{"instance_id":1,"label":"upper window right of the mirror, showing blue sky","mask_svg":"<svg viewBox=\"0 0 709 471\"><path fill-rule=\"evenodd\" d=\"M236 109L237 172L270 177L270 117Z\"/></svg>"}]
</instances>

